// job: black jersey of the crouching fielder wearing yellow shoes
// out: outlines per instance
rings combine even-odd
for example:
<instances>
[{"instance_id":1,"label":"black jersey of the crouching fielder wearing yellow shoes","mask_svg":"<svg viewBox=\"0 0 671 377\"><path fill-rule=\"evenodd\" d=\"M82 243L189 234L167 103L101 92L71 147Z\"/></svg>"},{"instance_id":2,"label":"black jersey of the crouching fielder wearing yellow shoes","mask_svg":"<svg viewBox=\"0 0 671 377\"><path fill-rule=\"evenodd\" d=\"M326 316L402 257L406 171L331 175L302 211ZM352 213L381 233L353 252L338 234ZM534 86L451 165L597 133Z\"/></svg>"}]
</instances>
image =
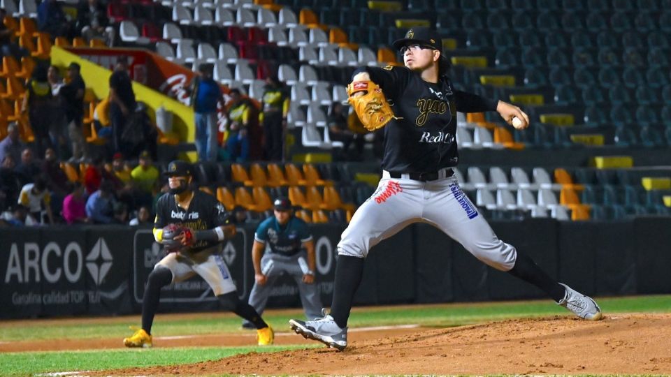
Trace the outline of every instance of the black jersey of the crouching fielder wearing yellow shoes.
<instances>
[{"instance_id":1,"label":"black jersey of the crouching fielder wearing yellow shoes","mask_svg":"<svg viewBox=\"0 0 671 377\"><path fill-rule=\"evenodd\" d=\"M196 190L187 210L177 205L175 195L171 193L166 193L159 198L156 203L154 228L161 229L170 223L182 224L191 230L205 230L230 225L231 220L224 205L214 196ZM199 241L188 251L201 251L218 243L219 241Z\"/></svg>"}]
</instances>

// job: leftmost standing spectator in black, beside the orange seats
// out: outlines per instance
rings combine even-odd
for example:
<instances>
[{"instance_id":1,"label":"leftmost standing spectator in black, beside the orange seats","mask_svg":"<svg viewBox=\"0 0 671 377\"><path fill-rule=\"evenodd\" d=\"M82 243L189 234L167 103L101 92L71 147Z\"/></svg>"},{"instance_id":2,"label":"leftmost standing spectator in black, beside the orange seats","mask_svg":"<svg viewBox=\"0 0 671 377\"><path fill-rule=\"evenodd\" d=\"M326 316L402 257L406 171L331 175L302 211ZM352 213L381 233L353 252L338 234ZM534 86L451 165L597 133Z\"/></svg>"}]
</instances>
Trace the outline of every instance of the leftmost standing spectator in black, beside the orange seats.
<instances>
[{"instance_id":1,"label":"leftmost standing spectator in black, beside the orange seats","mask_svg":"<svg viewBox=\"0 0 671 377\"><path fill-rule=\"evenodd\" d=\"M49 138L50 125L52 123L51 110L54 102L51 94L51 85L47 79L48 68L38 64L26 85L26 94L23 97L21 112L28 112L28 120L35 135L35 149L38 156L44 156L47 147L51 147Z\"/></svg>"}]
</instances>

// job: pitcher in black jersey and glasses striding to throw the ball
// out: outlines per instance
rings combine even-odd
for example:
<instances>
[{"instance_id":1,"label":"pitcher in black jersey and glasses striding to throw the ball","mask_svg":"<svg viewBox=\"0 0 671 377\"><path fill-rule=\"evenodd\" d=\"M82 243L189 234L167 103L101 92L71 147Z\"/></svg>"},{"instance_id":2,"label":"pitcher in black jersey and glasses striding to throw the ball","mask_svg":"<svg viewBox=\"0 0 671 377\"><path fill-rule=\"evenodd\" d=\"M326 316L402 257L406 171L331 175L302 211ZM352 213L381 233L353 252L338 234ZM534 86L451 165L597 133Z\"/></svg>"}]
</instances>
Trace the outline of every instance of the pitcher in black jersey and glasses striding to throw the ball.
<instances>
[{"instance_id":1,"label":"pitcher in black jersey and glasses striding to throw the ball","mask_svg":"<svg viewBox=\"0 0 671 377\"><path fill-rule=\"evenodd\" d=\"M345 349L347 318L361 282L363 259L382 239L417 222L439 228L475 258L532 283L577 316L587 320L602 316L590 297L557 283L531 258L498 239L461 191L452 170L459 162L456 112L496 110L519 129L528 126L528 117L510 103L454 89L441 46L435 31L410 29L394 42L405 67L361 68L347 87L349 102L365 126L373 130L386 124L382 179L342 232L330 315L324 311L318 320L289 320L305 338Z\"/></svg>"}]
</instances>

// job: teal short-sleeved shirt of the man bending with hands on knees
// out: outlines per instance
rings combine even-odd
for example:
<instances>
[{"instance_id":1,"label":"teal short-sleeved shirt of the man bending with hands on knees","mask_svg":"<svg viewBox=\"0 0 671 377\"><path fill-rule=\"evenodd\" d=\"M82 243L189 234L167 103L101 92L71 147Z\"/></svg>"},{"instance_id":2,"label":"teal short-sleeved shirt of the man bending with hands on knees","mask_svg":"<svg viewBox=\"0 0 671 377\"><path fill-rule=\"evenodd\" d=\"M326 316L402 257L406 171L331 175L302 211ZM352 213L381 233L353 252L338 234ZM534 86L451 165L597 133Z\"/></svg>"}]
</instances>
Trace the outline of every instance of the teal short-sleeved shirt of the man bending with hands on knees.
<instances>
[{"instance_id":1,"label":"teal short-sleeved shirt of the man bending with hands on knees","mask_svg":"<svg viewBox=\"0 0 671 377\"><path fill-rule=\"evenodd\" d=\"M270 252L284 256L293 256L301 251L303 242L312 239L308 231L308 224L291 216L289 222L283 226L277 222L275 216L271 216L259 224L257 232L254 233L254 241L270 245Z\"/></svg>"}]
</instances>

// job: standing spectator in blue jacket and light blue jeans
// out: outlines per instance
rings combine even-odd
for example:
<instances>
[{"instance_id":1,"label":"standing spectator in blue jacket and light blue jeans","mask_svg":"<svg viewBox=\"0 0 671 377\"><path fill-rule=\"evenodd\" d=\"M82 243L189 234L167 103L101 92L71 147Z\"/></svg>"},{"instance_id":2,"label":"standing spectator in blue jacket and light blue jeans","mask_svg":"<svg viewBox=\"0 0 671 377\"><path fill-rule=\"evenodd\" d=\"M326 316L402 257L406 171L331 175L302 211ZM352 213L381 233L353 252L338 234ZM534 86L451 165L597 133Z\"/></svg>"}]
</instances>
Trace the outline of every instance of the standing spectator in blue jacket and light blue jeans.
<instances>
[{"instance_id":1,"label":"standing spectator in blue jacket and light blue jeans","mask_svg":"<svg viewBox=\"0 0 671 377\"><path fill-rule=\"evenodd\" d=\"M222 108L222 89L212 79L212 64L201 64L189 91L194 107L196 149L199 161L217 161L217 105Z\"/></svg>"}]
</instances>

